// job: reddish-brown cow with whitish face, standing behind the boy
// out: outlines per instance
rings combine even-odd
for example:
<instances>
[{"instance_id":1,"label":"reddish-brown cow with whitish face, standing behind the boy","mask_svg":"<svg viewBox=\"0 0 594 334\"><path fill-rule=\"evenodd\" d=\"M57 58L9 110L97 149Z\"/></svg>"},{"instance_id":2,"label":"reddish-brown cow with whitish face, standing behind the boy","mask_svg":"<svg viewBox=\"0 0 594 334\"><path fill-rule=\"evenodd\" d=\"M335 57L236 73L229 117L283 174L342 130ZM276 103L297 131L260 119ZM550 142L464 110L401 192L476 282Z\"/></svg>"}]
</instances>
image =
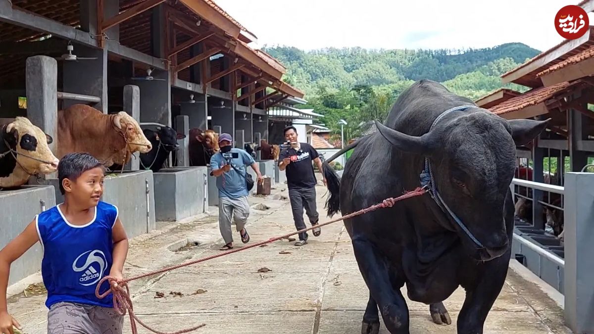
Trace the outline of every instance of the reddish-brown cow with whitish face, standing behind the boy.
<instances>
[{"instance_id":1,"label":"reddish-brown cow with whitish face, standing behind the boy","mask_svg":"<svg viewBox=\"0 0 594 334\"><path fill-rule=\"evenodd\" d=\"M87 105L58 111L58 157L87 152L109 167L125 165L132 153L152 148L138 122L123 111L106 115Z\"/></svg>"}]
</instances>

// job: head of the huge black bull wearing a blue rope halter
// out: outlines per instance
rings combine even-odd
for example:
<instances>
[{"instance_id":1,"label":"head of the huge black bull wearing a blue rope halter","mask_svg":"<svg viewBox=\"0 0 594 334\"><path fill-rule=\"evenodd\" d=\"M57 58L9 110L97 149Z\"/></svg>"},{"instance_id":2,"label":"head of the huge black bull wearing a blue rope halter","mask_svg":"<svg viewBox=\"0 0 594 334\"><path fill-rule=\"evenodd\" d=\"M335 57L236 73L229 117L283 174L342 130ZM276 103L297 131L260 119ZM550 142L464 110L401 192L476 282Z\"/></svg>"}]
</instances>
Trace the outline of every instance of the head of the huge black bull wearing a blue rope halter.
<instances>
[{"instance_id":1,"label":"head of the huge black bull wearing a blue rope halter","mask_svg":"<svg viewBox=\"0 0 594 334\"><path fill-rule=\"evenodd\" d=\"M443 215L437 206L429 203L444 228L456 231L475 259L495 259L509 248L504 216L511 215L513 209L505 207L505 201L510 200L508 193L516 169L516 146L532 141L545 129L549 119L508 121L478 107L470 113L453 115L441 119L420 137L376 123L381 136L394 149L429 157L441 198L484 248L478 248L450 215ZM416 168L419 167L413 169ZM418 180L419 172L410 173L414 174L410 177ZM406 182L413 181L406 179Z\"/></svg>"}]
</instances>

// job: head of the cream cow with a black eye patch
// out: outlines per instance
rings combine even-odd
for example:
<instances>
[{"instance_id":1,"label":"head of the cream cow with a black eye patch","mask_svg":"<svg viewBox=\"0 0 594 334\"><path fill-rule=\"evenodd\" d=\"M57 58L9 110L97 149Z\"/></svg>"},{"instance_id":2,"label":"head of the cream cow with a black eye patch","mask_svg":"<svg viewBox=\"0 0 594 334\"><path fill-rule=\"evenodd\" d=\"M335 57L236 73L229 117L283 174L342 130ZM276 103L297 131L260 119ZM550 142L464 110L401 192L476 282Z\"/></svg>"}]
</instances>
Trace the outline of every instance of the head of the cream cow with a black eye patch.
<instances>
[{"instance_id":1,"label":"head of the cream cow with a black eye patch","mask_svg":"<svg viewBox=\"0 0 594 334\"><path fill-rule=\"evenodd\" d=\"M50 174L58 170L58 158L48 144L53 138L31 124L29 119L17 117L2 131L2 139L17 152L18 165L31 174Z\"/></svg>"}]
</instances>

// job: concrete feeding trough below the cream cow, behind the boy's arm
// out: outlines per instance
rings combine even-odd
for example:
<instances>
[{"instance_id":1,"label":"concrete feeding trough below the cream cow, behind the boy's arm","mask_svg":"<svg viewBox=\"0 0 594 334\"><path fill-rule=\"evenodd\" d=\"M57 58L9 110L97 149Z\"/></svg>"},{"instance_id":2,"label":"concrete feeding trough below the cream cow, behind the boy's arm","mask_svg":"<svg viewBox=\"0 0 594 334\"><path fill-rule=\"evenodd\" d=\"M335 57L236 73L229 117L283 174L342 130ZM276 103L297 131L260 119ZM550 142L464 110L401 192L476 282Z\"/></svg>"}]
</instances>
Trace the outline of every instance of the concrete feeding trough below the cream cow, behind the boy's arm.
<instances>
[{"instance_id":1,"label":"concrete feeding trough below the cream cow, behind the boy's arm","mask_svg":"<svg viewBox=\"0 0 594 334\"><path fill-rule=\"evenodd\" d=\"M35 215L55 205L56 197L51 185L23 185L15 190L0 191L0 248L23 232ZM43 248L37 242L12 263L8 285L37 272L42 259Z\"/></svg>"}]
</instances>

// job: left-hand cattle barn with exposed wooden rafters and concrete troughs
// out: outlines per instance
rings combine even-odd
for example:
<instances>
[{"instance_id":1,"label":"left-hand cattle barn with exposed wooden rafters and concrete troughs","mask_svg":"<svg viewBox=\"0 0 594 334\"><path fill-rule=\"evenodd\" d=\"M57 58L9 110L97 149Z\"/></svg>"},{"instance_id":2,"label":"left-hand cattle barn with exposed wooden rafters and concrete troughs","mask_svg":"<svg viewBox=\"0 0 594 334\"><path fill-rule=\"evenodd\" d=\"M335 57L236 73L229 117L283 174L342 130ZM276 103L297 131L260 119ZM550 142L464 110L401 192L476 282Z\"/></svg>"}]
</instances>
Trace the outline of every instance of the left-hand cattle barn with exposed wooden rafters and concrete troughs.
<instances>
[{"instance_id":1,"label":"left-hand cattle barn with exposed wooden rafters and concrete troughs","mask_svg":"<svg viewBox=\"0 0 594 334\"><path fill-rule=\"evenodd\" d=\"M162 165L141 165L139 155L148 153L138 149L108 172L103 200L119 206L129 237L207 209L214 180L208 166L189 161L192 129L230 133L243 148L269 139L269 108L304 101L282 80L286 68L251 47L257 36L210 0L0 0L0 41L0 124L26 117L53 139L54 155L66 126L58 124L59 111L67 108L92 107L96 119L123 111L141 143L150 143L143 130L178 134L171 138L179 148ZM80 120L71 114L72 132ZM105 131L89 141L100 149L112 136L119 135ZM261 164L274 179L273 160ZM48 173L0 191L7 231L0 244L61 203L57 173ZM10 283L37 271L36 247L13 266Z\"/></svg>"}]
</instances>

